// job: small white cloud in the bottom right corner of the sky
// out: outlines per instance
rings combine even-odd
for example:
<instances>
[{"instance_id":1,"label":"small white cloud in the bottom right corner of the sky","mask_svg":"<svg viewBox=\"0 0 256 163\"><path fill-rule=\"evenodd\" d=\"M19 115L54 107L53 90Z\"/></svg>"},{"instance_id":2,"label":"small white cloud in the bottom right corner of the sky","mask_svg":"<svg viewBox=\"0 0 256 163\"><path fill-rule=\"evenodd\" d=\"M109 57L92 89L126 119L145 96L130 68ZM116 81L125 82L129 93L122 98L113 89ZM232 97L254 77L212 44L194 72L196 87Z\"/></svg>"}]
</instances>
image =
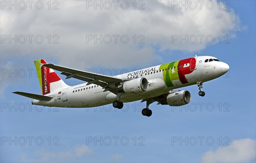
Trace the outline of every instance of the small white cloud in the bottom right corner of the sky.
<instances>
[{"instance_id":1,"label":"small white cloud in the bottom right corner of the sky","mask_svg":"<svg viewBox=\"0 0 256 163\"><path fill-rule=\"evenodd\" d=\"M256 159L256 141L252 139L234 140L230 146L207 151L201 157L203 163L241 163Z\"/></svg>"}]
</instances>

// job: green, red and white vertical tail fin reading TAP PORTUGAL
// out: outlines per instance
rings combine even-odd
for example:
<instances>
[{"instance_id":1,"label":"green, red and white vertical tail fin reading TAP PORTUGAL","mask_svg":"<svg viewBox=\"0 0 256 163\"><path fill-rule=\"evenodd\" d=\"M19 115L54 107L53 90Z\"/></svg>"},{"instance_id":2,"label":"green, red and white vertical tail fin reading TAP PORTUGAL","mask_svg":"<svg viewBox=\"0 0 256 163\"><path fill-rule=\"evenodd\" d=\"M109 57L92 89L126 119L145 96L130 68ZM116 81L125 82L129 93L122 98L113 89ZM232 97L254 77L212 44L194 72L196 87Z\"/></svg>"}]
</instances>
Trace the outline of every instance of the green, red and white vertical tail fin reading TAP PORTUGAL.
<instances>
[{"instance_id":1,"label":"green, red and white vertical tail fin reading TAP PORTUGAL","mask_svg":"<svg viewBox=\"0 0 256 163\"><path fill-rule=\"evenodd\" d=\"M42 94L46 95L55 90L62 90L69 87L51 68L44 67L46 64L44 59L35 61L35 68L38 74L39 83L41 86Z\"/></svg>"}]
</instances>

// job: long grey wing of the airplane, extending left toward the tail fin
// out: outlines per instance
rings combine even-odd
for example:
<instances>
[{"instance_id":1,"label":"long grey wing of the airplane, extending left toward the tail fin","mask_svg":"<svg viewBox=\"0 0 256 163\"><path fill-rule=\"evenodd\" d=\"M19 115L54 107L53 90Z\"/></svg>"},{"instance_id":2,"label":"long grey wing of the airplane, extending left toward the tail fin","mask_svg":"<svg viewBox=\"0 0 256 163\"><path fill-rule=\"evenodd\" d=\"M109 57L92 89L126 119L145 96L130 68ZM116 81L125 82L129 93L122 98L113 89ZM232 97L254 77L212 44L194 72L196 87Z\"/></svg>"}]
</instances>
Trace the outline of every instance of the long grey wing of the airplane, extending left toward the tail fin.
<instances>
[{"instance_id":1,"label":"long grey wing of the airplane, extending left toward the tail fin","mask_svg":"<svg viewBox=\"0 0 256 163\"><path fill-rule=\"evenodd\" d=\"M53 64L44 64L43 66L61 71L62 75L67 76L66 79L75 78L75 79L82 80L84 82L88 82L87 85L96 84L101 86L103 89L105 89L104 92L109 90L115 94L117 93L116 88L118 88L118 86L121 85L122 82L125 80L122 78L100 75L97 73L90 73L90 72L81 71L81 70L75 70L75 69L53 65Z\"/></svg>"}]
</instances>

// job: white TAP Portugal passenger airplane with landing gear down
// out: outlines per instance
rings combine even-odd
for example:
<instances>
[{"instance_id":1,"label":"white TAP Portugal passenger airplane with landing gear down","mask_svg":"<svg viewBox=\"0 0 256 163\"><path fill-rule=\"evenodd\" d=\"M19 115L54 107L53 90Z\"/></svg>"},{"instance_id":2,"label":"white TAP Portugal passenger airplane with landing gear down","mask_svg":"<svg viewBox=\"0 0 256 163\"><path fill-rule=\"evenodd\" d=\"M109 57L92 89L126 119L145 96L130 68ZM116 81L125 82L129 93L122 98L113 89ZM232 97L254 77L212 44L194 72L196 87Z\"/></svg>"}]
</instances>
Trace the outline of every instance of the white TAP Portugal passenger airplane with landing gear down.
<instances>
[{"instance_id":1,"label":"white TAP Portugal passenger airplane with landing gear down","mask_svg":"<svg viewBox=\"0 0 256 163\"><path fill-rule=\"evenodd\" d=\"M196 84L199 96L204 82L216 79L229 70L229 65L213 56L196 56L148 67L117 76L106 76L68 67L47 64L44 59L35 61L43 95L13 92L33 98L32 104L49 107L87 108L113 104L122 109L124 102L146 101L142 115L150 117L148 108L153 102L181 106L191 101L187 90L174 90ZM58 70L66 79L75 78L86 83L69 86L55 73Z\"/></svg>"}]
</instances>

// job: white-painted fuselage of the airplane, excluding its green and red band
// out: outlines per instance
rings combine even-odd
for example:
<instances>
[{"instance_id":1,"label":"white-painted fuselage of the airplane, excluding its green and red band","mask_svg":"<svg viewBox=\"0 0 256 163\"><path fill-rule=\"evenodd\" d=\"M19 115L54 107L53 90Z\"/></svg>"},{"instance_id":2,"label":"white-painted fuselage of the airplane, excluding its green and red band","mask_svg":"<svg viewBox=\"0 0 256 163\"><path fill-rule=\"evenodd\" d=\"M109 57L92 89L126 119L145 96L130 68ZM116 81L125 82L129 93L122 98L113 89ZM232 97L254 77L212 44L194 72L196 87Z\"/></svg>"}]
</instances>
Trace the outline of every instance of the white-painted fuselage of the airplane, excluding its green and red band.
<instances>
[{"instance_id":1,"label":"white-painted fuselage of the airplane, excluding its green and red band","mask_svg":"<svg viewBox=\"0 0 256 163\"><path fill-rule=\"evenodd\" d=\"M224 62L205 62L206 59L215 59L212 56L198 56L196 59L195 69L192 73L186 74L187 83L183 84L180 80L176 79L172 81L172 86L166 85L163 71L169 71L169 73L177 73L172 68L167 70L161 70L160 66L149 67L130 73L121 74L119 78L137 78L144 77L148 80L148 90L143 93L122 93L119 100L122 102L131 102L151 97L156 97L168 93L170 90L177 89L180 87L186 87L189 85L196 84L197 82L207 82L209 80L222 76L228 70L228 65ZM189 65L189 63L188 63ZM183 65L183 66L186 66ZM116 94L105 91L104 89L96 84L86 85L79 84L75 86L66 87L61 90L47 94L47 96L53 97L50 101L38 101L33 100L32 104L50 106L50 107L97 107L105 104L111 104L117 99ZM60 94L58 94L61 92Z\"/></svg>"}]
</instances>

